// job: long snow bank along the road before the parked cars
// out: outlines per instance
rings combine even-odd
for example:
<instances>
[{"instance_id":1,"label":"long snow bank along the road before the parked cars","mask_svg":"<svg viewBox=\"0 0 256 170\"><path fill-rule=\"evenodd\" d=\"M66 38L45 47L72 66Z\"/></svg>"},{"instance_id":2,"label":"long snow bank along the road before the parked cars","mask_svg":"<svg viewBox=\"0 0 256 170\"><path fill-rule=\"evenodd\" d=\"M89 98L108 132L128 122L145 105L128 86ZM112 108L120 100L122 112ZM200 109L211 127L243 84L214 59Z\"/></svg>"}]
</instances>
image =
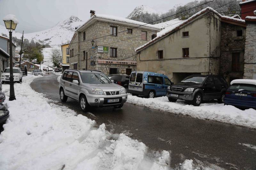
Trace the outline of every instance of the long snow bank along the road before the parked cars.
<instances>
[{"instance_id":1,"label":"long snow bank along the road before the parked cars","mask_svg":"<svg viewBox=\"0 0 256 170\"><path fill-rule=\"evenodd\" d=\"M146 99L128 95L127 102L174 114L189 115L197 119L256 128L256 110L252 108L240 110L234 106L224 106L224 104L217 103L202 103L196 107L179 100L177 102L169 102L166 96Z\"/></svg>"}]
</instances>

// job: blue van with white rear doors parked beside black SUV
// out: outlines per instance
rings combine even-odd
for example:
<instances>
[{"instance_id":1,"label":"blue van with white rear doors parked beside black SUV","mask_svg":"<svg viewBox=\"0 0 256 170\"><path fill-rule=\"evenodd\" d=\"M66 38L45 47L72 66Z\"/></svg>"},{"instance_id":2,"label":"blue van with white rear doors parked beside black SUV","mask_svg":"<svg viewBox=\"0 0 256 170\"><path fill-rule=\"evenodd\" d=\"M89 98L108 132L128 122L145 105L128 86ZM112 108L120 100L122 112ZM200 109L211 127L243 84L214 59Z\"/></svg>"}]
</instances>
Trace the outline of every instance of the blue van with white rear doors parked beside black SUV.
<instances>
[{"instance_id":1,"label":"blue van with white rear doors parked beside black SUV","mask_svg":"<svg viewBox=\"0 0 256 170\"><path fill-rule=\"evenodd\" d=\"M163 74L148 71L132 71L128 93L143 95L148 98L166 96L166 90L172 84L171 80Z\"/></svg>"}]
</instances>

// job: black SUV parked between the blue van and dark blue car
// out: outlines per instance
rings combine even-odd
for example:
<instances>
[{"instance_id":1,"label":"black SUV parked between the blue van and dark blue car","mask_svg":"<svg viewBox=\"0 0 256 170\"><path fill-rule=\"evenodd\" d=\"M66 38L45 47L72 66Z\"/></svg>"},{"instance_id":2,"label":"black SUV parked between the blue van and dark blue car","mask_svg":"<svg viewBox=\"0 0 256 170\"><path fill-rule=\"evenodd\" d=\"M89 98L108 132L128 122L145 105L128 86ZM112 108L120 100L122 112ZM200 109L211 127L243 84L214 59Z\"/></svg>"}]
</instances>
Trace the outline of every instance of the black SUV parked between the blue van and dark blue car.
<instances>
[{"instance_id":1,"label":"black SUV parked between the blue van and dark blue car","mask_svg":"<svg viewBox=\"0 0 256 170\"><path fill-rule=\"evenodd\" d=\"M169 101L191 101L194 106L199 106L202 101L218 99L223 103L225 92L228 89L226 80L216 75L191 75L180 83L168 87Z\"/></svg>"}]
</instances>

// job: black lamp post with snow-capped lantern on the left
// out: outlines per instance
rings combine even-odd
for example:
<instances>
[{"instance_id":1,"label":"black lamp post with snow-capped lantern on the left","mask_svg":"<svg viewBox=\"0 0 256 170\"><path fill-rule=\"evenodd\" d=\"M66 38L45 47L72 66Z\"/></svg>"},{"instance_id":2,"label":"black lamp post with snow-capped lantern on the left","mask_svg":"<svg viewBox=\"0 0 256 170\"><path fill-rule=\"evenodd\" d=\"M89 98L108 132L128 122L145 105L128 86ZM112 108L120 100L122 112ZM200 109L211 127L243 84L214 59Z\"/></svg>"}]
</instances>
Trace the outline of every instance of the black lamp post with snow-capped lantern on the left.
<instances>
[{"instance_id":1,"label":"black lamp post with snow-capped lantern on the left","mask_svg":"<svg viewBox=\"0 0 256 170\"><path fill-rule=\"evenodd\" d=\"M17 24L19 23L15 15L9 14L4 17L4 24L6 29L9 30L9 48L10 48L10 96L9 100L16 100L14 93L14 82L13 82L13 63L12 63L12 31L15 30Z\"/></svg>"}]
</instances>

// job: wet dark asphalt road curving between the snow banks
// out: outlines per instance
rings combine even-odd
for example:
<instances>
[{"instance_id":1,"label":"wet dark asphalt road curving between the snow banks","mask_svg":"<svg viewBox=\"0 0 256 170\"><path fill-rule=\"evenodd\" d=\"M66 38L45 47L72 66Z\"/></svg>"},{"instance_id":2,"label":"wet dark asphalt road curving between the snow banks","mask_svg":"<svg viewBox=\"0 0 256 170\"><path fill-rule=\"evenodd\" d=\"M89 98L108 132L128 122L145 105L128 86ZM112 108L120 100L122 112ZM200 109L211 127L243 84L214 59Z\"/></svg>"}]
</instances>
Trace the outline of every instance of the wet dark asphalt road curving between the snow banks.
<instances>
[{"instance_id":1,"label":"wet dark asphalt road curving between the snow banks","mask_svg":"<svg viewBox=\"0 0 256 170\"><path fill-rule=\"evenodd\" d=\"M50 74L37 78L31 87L46 98L60 102L57 77ZM256 150L239 144L256 145L255 129L198 120L129 103L122 109L92 108L90 113L81 112L78 102L72 99L59 104L95 120L98 125L105 123L112 133L125 132L146 144L151 151L171 151L172 168L185 159L193 159L200 165L215 164L225 169L256 169Z\"/></svg>"}]
</instances>

